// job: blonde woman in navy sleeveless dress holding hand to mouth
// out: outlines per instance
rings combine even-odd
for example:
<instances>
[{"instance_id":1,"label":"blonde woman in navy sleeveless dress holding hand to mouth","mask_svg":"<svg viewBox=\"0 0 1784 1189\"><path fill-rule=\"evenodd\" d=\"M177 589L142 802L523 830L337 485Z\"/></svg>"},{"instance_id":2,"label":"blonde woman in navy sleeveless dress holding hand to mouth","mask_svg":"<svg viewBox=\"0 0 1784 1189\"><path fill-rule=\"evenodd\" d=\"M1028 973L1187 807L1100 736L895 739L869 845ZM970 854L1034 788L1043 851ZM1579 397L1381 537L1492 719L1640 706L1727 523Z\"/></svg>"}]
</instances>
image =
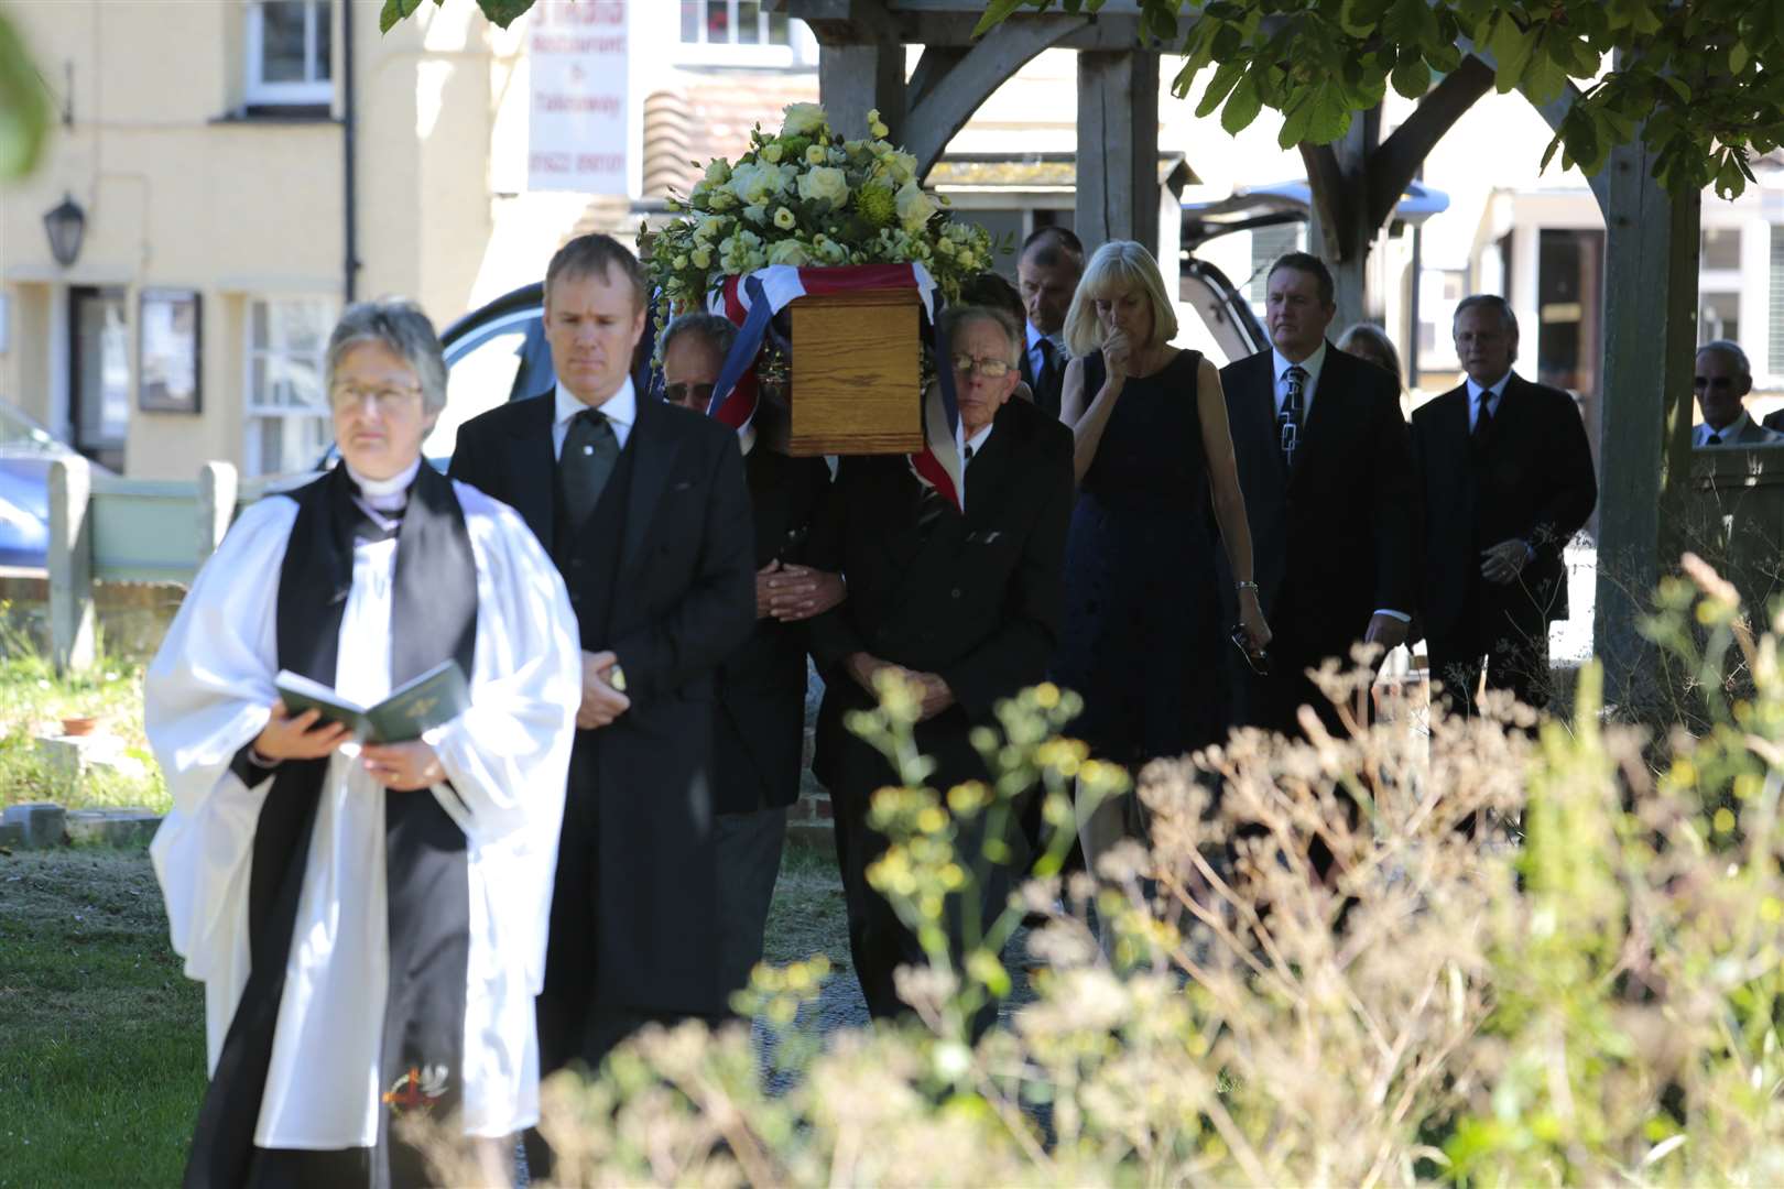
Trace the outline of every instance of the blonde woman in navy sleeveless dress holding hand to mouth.
<instances>
[{"instance_id":1,"label":"blonde woman in navy sleeveless dress holding hand to mouth","mask_svg":"<svg viewBox=\"0 0 1784 1189\"><path fill-rule=\"evenodd\" d=\"M1074 435L1079 494L1054 676L1085 699L1076 731L1092 752L1133 772L1204 747L1227 726L1222 672L1233 644L1215 588L1215 524L1238 579L1245 644L1258 656L1270 642L1220 373L1170 346L1176 333L1152 255L1131 241L1103 244L1065 317L1072 362L1060 417ZM1083 820L1086 861L1131 829L1113 804Z\"/></svg>"}]
</instances>

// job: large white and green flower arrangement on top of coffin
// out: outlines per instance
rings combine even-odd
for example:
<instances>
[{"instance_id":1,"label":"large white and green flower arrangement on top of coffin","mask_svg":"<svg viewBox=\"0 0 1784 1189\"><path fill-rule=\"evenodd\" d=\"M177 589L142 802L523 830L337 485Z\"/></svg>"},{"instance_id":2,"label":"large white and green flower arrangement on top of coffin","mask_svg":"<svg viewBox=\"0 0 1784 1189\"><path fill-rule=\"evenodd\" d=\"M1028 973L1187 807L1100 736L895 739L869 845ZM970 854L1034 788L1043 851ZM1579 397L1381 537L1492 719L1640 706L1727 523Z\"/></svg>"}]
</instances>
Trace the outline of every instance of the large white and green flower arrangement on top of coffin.
<instances>
[{"instance_id":1,"label":"large white and green flower arrangement on top of coffin","mask_svg":"<svg viewBox=\"0 0 1784 1189\"><path fill-rule=\"evenodd\" d=\"M917 159L887 141L880 112L871 139L846 141L819 103L792 103L780 132L760 125L735 162L712 160L657 232L640 228L658 323L705 308L728 276L789 264L921 264L946 299L992 266L981 226L942 212L946 198L917 184Z\"/></svg>"}]
</instances>

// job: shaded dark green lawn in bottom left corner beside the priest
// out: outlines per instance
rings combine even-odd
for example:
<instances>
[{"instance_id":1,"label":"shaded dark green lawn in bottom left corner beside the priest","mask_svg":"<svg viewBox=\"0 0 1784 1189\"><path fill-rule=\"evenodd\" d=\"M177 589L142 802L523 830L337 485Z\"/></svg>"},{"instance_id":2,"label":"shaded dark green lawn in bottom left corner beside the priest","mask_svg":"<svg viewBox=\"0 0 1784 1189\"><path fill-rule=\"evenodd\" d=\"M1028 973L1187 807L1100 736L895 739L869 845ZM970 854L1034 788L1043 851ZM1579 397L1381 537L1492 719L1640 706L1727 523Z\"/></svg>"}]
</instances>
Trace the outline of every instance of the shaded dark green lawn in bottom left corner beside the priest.
<instances>
[{"instance_id":1,"label":"shaded dark green lawn in bottom left corner beside the priest","mask_svg":"<svg viewBox=\"0 0 1784 1189\"><path fill-rule=\"evenodd\" d=\"M203 989L146 852L0 854L0 1187L178 1184Z\"/></svg>"}]
</instances>

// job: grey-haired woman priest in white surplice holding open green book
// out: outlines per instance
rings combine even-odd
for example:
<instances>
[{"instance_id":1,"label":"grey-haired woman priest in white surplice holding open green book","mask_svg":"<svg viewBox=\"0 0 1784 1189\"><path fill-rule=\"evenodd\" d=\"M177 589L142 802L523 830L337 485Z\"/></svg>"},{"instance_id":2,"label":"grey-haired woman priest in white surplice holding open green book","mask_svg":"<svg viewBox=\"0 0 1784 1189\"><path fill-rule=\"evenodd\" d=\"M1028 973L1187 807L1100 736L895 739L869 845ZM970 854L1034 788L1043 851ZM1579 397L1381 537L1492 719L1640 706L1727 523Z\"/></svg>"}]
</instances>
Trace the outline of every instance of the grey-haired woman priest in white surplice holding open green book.
<instances>
[{"instance_id":1,"label":"grey-haired woman priest in white surplice holding open green book","mask_svg":"<svg viewBox=\"0 0 1784 1189\"><path fill-rule=\"evenodd\" d=\"M521 517L423 462L446 365L416 305L350 307L326 389L343 463L241 515L148 670L152 856L205 984L187 1185L423 1184L405 1118L487 1153L539 1116L574 615ZM446 660L469 706L407 743L275 692L375 706Z\"/></svg>"}]
</instances>

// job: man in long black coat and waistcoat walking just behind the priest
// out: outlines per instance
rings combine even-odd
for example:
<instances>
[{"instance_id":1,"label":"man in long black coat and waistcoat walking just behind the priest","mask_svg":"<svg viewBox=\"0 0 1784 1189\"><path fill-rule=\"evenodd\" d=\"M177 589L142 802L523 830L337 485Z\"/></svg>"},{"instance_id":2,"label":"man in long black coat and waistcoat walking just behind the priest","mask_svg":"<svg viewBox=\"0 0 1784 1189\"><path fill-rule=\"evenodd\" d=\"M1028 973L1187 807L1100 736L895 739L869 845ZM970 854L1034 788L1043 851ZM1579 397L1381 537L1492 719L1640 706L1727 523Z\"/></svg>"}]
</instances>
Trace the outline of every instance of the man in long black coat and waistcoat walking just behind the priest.
<instances>
[{"instance_id":1,"label":"man in long black coat and waistcoat walking just behind the priest","mask_svg":"<svg viewBox=\"0 0 1784 1189\"><path fill-rule=\"evenodd\" d=\"M630 251L567 242L546 271L557 389L466 422L451 460L551 549L582 631L542 1073L724 1005L712 722L755 620L749 494L731 430L633 390L646 310Z\"/></svg>"}]
</instances>

